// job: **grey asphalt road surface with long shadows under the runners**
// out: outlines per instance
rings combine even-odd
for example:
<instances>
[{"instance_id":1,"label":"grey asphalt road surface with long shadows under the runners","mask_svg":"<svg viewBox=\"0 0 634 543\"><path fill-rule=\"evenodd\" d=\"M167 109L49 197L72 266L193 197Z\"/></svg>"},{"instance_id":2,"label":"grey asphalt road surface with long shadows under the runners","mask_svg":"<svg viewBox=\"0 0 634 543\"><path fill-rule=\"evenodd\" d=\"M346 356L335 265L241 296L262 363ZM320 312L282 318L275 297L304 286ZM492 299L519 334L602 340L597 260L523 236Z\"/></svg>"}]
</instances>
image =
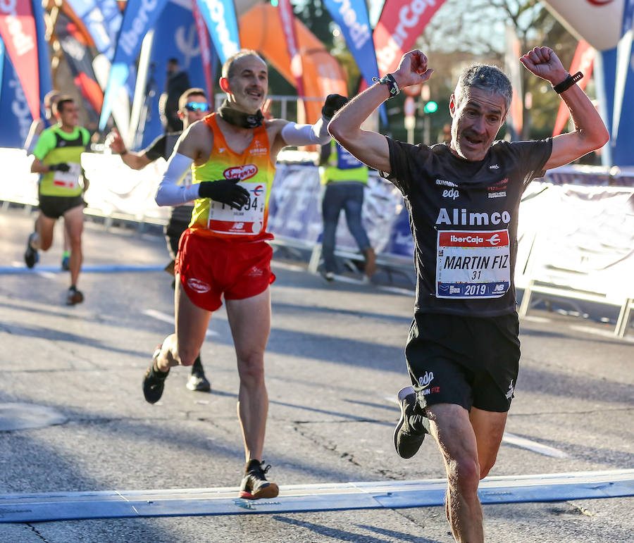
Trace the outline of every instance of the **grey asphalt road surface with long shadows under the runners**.
<instances>
[{"instance_id":1,"label":"grey asphalt road surface with long shadows under the runners","mask_svg":"<svg viewBox=\"0 0 634 543\"><path fill-rule=\"evenodd\" d=\"M173 330L163 238L88 223L85 266L101 271L82 274L85 302L67 307L68 274L57 270L61 227L35 271L23 269L33 218L0 211L0 408L45 406L57 418L0 431L0 494L237 490L244 458L224 309L201 352L211 394L187 390L187 370L175 368L151 406L142 377ZM6 273L13 266L16 273ZM264 455L271 478L282 488L441 478L433 442L409 461L392 446L395 395L408 383L411 294L330 285L288 258L273 267ZM615 339L612 329L540 310L521 322L523 358L507 432L523 441L502 444L491 475L634 468L634 333ZM487 505L485 532L490 542L634 541L633 508L631 497ZM0 524L0 542L26 543L452 540L437 506Z\"/></svg>"}]
</instances>

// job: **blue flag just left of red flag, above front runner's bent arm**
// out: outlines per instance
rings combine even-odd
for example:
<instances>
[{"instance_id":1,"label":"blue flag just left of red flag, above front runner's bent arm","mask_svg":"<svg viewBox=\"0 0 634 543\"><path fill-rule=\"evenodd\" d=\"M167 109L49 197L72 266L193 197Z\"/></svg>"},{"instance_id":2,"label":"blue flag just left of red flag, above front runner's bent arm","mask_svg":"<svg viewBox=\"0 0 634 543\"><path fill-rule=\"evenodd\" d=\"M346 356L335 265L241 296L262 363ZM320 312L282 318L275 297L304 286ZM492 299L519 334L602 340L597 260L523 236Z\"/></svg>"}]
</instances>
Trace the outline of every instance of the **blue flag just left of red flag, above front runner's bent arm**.
<instances>
[{"instance_id":1,"label":"blue flag just left of red flag, above front runner's bent arm","mask_svg":"<svg viewBox=\"0 0 634 543\"><path fill-rule=\"evenodd\" d=\"M371 87L372 78L378 77L378 65L366 0L323 0L323 3L332 20L339 25L363 80ZM387 125L387 113L383 104L379 113L381 120Z\"/></svg>"}]
</instances>

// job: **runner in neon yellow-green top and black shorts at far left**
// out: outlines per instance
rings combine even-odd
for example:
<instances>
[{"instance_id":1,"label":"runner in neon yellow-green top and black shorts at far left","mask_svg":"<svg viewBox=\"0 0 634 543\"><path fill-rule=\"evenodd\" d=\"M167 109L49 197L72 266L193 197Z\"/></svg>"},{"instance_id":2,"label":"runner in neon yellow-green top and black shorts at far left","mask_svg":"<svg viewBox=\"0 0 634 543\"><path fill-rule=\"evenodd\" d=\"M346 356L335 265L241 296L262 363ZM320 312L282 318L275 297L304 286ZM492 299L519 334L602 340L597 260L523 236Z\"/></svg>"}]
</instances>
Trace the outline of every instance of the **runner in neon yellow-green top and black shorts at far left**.
<instances>
[{"instance_id":1,"label":"runner in neon yellow-green top and black shorts at far left","mask_svg":"<svg viewBox=\"0 0 634 543\"><path fill-rule=\"evenodd\" d=\"M38 261L37 251L48 251L53 243L55 221L62 217L70 237L70 288L66 304L72 306L84 299L77 290L82 267L82 230L84 227L81 154L90 141L88 130L77 126L79 114L70 96L61 96L53 105L57 125L46 128L33 150L31 171L42 174L39 182L39 216L35 232L29 236L24 260L28 268Z\"/></svg>"}]
</instances>

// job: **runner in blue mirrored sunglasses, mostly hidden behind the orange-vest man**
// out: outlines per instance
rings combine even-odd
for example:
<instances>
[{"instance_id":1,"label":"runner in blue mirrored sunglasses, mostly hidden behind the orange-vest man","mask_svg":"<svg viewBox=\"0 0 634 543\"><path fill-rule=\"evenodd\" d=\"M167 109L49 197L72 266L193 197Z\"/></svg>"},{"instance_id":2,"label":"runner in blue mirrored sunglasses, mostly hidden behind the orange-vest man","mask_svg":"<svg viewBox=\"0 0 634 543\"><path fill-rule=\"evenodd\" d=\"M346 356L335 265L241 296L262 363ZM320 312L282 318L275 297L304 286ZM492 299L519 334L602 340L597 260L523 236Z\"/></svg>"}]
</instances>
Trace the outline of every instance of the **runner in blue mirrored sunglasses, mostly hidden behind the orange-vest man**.
<instances>
[{"instance_id":1,"label":"runner in blue mirrored sunglasses, mostly hidden behind the orange-vest man","mask_svg":"<svg viewBox=\"0 0 634 543\"><path fill-rule=\"evenodd\" d=\"M197 120L201 120L209 113L209 102L204 89L198 87L192 87L187 89L180 95L178 99L178 116L182 119L182 123L187 128ZM154 142L137 153L128 151L125 149L125 144L121 138L119 132L115 129L108 135L108 142L110 142L111 149L121 155L123 162L130 166L134 170L141 170L149 163L158 160L159 158L170 158L170 154L174 149L174 146L178 140L181 132L170 132L157 137ZM185 177L182 178L181 184L191 185L192 174L188 172ZM178 240L182 232L187 230L189 221L192 220L192 210L194 206L191 204L185 204L183 206L175 206L170 213L170 222L165 227L165 239L170 251L172 260L166 266L166 272L174 275L174 261L176 253L178 253ZM174 281L172 282L172 287ZM209 392L211 390L211 383L205 377L204 369L200 361L200 355L192 364L192 373L187 380L187 388L189 390L197 390L199 392Z\"/></svg>"}]
</instances>

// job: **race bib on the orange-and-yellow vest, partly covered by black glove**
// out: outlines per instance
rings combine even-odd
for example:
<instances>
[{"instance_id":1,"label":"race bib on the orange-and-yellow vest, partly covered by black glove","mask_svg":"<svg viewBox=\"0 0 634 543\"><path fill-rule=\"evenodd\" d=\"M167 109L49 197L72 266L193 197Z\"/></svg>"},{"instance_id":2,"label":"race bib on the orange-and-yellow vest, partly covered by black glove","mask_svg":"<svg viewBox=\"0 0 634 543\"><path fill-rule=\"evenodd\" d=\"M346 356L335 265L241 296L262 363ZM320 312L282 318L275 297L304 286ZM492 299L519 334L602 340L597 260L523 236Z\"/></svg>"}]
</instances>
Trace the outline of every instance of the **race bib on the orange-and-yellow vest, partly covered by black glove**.
<instances>
[{"instance_id":1,"label":"race bib on the orange-and-yellow vest, partly covered by black glove","mask_svg":"<svg viewBox=\"0 0 634 543\"><path fill-rule=\"evenodd\" d=\"M264 225L266 185L263 183L241 182L241 187L249 191L249 203L240 209L211 200L207 227L212 232L232 235L259 234Z\"/></svg>"}]
</instances>

